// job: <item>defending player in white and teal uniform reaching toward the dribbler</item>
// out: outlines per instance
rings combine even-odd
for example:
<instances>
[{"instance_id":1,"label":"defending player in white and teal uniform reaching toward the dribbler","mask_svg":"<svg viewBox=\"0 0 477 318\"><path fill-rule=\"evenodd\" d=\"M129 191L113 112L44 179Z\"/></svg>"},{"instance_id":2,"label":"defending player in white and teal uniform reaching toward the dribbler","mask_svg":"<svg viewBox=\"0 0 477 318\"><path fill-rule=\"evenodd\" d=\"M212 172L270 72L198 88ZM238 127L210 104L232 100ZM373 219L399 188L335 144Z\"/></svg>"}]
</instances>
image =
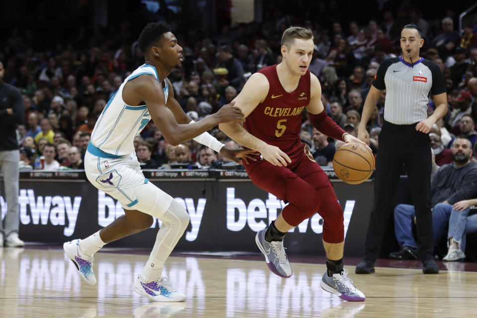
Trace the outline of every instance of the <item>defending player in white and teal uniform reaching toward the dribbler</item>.
<instances>
[{"instance_id":1,"label":"defending player in white and teal uniform reaching toward the dribbler","mask_svg":"<svg viewBox=\"0 0 477 318\"><path fill-rule=\"evenodd\" d=\"M63 245L82 279L96 284L93 254L104 244L149 229L153 217L162 221L156 242L134 290L154 301L178 302L185 295L162 277L162 266L189 224L184 207L148 182L141 172L133 140L153 119L165 140L178 145L194 138L223 156L239 162L253 151L229 149L206 133L219 123L243 121L243 113L232 104L193 122L174 99L166 76L182 62L182 48L164 22L148 24L139 37L146 63L121 84L99 116L84 158L88 180L121 202L125 215L86 239Z\"/></svg>"}]
</instances>

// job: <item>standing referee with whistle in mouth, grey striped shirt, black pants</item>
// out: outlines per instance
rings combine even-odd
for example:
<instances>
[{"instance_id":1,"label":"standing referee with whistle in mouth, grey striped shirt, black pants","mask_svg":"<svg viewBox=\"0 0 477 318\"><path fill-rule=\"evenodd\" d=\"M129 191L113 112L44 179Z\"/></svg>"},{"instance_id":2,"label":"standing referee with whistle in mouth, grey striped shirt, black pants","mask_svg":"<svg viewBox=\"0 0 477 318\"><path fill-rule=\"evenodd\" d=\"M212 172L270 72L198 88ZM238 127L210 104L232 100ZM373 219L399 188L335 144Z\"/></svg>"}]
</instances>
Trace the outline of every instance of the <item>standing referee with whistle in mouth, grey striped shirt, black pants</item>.
<instances>
[{"instance_id":1,"label":"standing referee with whistle in mouth, grey striped shirt, black pants","mask_svg":"<svg viewBox=\"0 0 477 318\"><path fill-rule=\"evenodd\" d=\"M417 254L424 274L438 274L434 261L434 238L430 202L431 146L429 131L447 112L444 76L434 62L419 57L424 44L419 26L407 24L401 30L402 56L390 58L379 67L364 103L358 138L369 145L366 124L386 89L384 124L379 135L376 159L374 206L369 219L364 259L356 266L357 274L374 273L391 202L404 164L416 211ZM434 113L427 117L429 91Z\"/></svg>"}]
</instances>

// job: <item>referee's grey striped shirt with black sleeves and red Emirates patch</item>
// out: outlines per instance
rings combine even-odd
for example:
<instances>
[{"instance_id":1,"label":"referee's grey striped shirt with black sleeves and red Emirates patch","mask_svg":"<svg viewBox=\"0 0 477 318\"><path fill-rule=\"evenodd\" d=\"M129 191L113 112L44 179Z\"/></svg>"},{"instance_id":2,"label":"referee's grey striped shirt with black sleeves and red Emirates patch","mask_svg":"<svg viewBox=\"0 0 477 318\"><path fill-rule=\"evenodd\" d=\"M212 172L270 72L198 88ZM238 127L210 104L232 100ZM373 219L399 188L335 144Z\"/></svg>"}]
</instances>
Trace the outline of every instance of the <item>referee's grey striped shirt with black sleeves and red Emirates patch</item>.
<instances>
[{"instance_id":1,"label":"referee's grey striped shirt with black sleeves and red Emirates patch","mask_svg":"<svg viewBox=\"0 0 477 318\"><path fill-rule=\"evenodd\" d=\"M380 65L373 86L386 89L384 120L396 125L426 119L429 91L433 95L446 92L446 81L437 64L420 58L411 65L402 56Z\"/></svg>"}]
</instances>

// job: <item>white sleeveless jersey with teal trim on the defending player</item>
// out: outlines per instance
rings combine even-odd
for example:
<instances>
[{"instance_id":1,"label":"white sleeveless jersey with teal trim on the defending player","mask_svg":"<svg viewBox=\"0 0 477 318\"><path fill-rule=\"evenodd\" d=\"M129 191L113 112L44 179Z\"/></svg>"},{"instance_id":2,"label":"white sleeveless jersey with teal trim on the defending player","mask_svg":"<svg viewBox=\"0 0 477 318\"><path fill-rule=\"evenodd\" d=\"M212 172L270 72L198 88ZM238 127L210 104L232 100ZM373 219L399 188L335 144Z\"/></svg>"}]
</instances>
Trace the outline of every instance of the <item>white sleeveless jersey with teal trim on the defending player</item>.
<instances>
[{"instance_id":1,"label":"white sleeveless jersey with teal trim on the defending player","mask_svg":"<svg viewBox=\"0 0 477 318\"><path fill-rule=\"evenodd\" d=\"M151 115L146 105L128 105L122 96L124 85L143 74L153 75L159 81L156 68L149 64L143 64L128 76L108 101L94 125L88 152L102 158L119 158L134 152L134 137L146 127ZM164 82L163 91L167 102L169 86L167 81Z\"/></svg>"}]
</instances>

